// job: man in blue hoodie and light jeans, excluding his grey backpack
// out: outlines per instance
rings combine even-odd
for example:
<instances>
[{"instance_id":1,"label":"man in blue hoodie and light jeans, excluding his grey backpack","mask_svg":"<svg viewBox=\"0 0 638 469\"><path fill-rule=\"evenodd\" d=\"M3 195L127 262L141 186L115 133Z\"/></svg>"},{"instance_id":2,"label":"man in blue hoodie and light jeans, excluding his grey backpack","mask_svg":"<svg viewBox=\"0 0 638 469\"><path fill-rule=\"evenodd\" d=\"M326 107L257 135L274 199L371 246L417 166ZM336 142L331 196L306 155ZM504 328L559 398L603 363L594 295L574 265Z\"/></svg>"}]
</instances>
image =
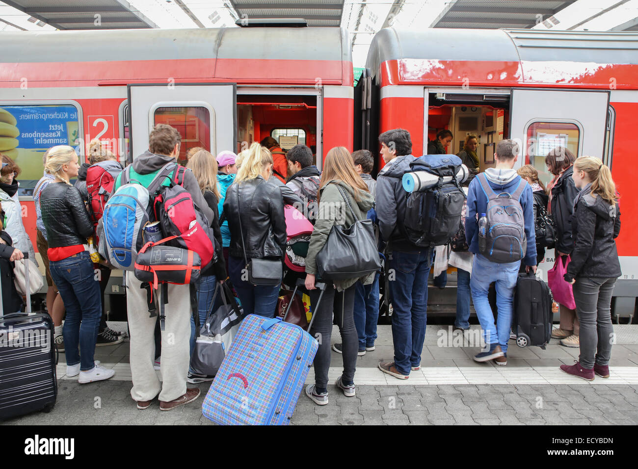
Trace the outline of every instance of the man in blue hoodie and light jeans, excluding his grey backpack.
<instances>
[{"instance_id":1,"label":"man in blue hoodie and light jeans, excluding his grey backpack","mask_svg":"<svg viewBox=\"0 0 638 469\"><path fill-rule=\"evenodd\" d=\"M507 192L512 196L520 193L519 202L523 209L524 232L527 249L523 262L526 271L536 272L536 237L534 231L534 210L531 186L521 179L514 170L518 159L519 145L514 140L501 140L496 144L494 153L494 168L487 168L485 175L487 183L494 193ZM524 188L519 188L525 184ZM516 198L516 197L515 197ZM493 262L479 253L479 225L478 217L487 212L487 193L481 185L479 177L470 183L468 191L468 209L465 219L465 235L470 245L470 251L475 253L472 265L470 289L474 309L479 317L481 328L485 334L486 345L489 350L480 352L474 357L477 362L494 360L496 364L507 365L507 341L510 339L512 327L512 307L514 304L514 288L518 279L521 261L500 264ZM478 215L478 216L477 216ZM489 306L487 292L489 284L496 282L496 306L498 318L494 325L494 315Z\"/></svg>"}]
</instances>

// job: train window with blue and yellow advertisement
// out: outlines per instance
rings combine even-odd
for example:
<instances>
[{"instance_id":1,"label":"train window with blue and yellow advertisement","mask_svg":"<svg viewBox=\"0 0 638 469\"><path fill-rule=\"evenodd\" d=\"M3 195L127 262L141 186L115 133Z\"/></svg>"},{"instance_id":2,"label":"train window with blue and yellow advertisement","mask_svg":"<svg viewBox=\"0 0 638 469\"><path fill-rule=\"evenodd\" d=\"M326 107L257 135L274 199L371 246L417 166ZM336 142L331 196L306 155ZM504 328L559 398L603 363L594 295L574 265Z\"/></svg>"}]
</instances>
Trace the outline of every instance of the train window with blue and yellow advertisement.
<instances>
[{"instance_id":1,"label":"train window with blue and yellow advertisement","mask_svg":"<svg viewBox=\"0 0 638 469\"><path fill-rule=\"evenodd\" d=\"M73 104L0 106L0 152L20 167L19 195L31 195L50 147L71 145L82 153L80 110Z\"/></svg>"}]
</instances>

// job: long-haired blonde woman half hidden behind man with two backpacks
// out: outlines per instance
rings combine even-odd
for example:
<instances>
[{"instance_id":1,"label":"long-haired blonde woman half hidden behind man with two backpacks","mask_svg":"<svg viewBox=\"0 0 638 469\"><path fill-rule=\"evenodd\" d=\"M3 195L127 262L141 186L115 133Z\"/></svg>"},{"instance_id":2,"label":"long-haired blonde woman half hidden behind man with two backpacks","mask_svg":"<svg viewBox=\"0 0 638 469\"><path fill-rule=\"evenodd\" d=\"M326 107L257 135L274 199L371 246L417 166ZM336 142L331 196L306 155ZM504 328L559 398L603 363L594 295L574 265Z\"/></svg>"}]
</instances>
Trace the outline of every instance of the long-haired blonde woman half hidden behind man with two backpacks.
<instances>
[{"instance_id":1,"label":"long-haired blonde woman half hidden behind man with two backpacks","mask_svg":"<svg viewBox=\"0 0 638 469\"><path fill-rule=\"evenodd\" d=\"M217 161L214 156L204 149L200 149L191 156L186 165L189 170L193 171L195 179L202 190L204 200L214 213L214 218L211 223L212 232L215 237L215 251L217 253L217 262L211 264L205 271L202 272L200 277L200 287L197 292L198 299L198 313L200 317L200 324L204 324L209 307L211 306L212 295L215 292L215 285L217 281L223 282L226 280L226 266L223 256L221 255L221 231L219 230L219 184L217 179ZM219 296L216 299L216 303L219 301ZM217 304L212 306L215 311ZM191 315L191 357L195 350L195 318ZM188 373L186 380L189 383L202 383L205 381L212 381L214 376L198 375L192 369Z\"/></svg>"}]
</instances>

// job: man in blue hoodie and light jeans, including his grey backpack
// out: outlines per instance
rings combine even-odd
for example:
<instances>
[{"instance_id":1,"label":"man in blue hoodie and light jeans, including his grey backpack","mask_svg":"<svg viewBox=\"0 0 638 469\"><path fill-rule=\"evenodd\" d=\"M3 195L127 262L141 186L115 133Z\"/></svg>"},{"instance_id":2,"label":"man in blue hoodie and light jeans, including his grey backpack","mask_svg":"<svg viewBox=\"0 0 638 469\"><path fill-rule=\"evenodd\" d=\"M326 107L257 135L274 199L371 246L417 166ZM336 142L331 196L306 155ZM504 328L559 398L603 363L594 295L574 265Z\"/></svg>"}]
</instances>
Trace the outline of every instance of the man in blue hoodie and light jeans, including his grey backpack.
<instances>
[{"instance_id":1,"label":"man in blue hoodie and light jeans, including his grey backpack","mask_svg":"<svg viewBox=\"0 0 638 469\"><path fill-rule=\"evenodd\" d=\"M521 262L536 272L536 238L531 186L514 170L519 145L514 140L496 144L494 168L470 183L465 235L475 254L470 280L474 308L486 339L477 362L507 364L507 341L512 327L514 289ZM496 282L498 319L489 306L489 285ZM489 346L489 350L487 350Z\"/></svg>"}]
</instances>

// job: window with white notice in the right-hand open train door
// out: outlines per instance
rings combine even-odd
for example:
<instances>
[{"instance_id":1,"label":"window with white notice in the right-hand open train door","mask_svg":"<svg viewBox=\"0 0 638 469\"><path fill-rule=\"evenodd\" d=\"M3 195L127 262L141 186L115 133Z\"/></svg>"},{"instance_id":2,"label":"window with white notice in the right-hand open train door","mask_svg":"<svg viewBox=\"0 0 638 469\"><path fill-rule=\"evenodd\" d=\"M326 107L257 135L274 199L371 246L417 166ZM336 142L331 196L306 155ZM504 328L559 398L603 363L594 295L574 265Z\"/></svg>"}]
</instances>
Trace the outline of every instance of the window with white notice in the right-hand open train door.
<instances>
[{"instance_id":1,"label":"window with white notice in the right-hand open train door","mask_svg":"<svg viewBox=\"0 0 638 469\"><path fill-rule=\"evenodd\" d=\"M527 129L527 158L525 164L531 164L538 171L540 180L545 184L553 175L545 167L545 156L556 147L566 147L578 155L581 136L579 127L570 122L535 122Z\"/></svg>"}]
</instances>

